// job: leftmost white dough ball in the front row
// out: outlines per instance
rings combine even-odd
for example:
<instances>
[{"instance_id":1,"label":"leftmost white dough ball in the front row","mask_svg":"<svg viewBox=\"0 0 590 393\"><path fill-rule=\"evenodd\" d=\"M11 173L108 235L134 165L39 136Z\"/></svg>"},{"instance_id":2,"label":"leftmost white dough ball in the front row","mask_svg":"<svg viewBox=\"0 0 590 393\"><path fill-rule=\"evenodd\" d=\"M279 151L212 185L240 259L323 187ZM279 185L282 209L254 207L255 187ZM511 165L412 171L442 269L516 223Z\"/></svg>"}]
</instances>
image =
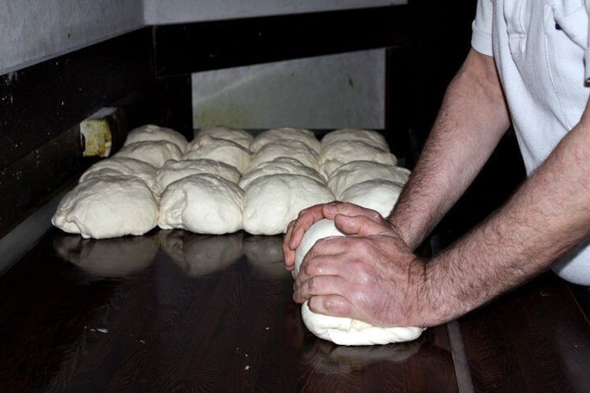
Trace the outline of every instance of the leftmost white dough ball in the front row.
<instances>
[{"instance_id":1,"label":"leftmost white dough ball in the front row","mask_svg":"<svg viewBox=\"0 0 590 393\"><path fill-rule=\"evenodd\" d=\"M141 235L157 225L158 203L138 177L95 177L64 195L51 223L85 239Z\"/></svg>"}]
</instances>

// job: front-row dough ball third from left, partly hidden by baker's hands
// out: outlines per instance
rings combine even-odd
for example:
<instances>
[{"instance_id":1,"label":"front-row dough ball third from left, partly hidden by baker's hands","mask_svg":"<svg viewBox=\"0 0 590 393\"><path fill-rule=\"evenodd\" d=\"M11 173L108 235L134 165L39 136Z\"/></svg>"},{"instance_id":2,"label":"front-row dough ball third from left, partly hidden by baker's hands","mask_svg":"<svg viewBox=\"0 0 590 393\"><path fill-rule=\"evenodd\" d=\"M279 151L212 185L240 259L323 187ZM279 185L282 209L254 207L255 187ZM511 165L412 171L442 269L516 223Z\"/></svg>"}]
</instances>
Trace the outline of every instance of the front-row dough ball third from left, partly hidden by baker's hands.
<instances>
[{"instance_id":1,"label":"front-row dough ball third from left, partly hidden by baker's hands","mask_svg":"<svg viewBox=\"0 0 590 393\"><path fill-rule=\"evenodd\" d=\"M250 234L280 234L299 211L332 202L328 186L302 175L268 175L250 183L244 203L244 230Z\"/></svg>"}]
</instances>

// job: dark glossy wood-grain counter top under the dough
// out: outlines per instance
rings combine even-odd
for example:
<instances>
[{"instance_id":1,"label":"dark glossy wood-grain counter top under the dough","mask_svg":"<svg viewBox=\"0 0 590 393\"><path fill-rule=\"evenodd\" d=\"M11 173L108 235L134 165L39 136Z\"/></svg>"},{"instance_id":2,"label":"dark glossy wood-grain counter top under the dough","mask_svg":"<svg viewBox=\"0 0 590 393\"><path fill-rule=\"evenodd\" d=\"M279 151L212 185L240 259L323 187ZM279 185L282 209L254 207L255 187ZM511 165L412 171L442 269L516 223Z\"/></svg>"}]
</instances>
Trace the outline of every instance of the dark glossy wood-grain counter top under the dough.
<instances>
[{"instance_id":1,"label":"dark glossy wood-grain counter top under the dough","mask_svg":"<svg viewBox=\"0 0 590 393\"><path fill-rule=\"evenodd\" d=\"M312 336L281 241L52 230L0 277L0 392L457 392L461 371L477 391L590 389L589 321L552 275L460 320L461 370L447 326L387 346Z\"/></svg>"}]
</instances>

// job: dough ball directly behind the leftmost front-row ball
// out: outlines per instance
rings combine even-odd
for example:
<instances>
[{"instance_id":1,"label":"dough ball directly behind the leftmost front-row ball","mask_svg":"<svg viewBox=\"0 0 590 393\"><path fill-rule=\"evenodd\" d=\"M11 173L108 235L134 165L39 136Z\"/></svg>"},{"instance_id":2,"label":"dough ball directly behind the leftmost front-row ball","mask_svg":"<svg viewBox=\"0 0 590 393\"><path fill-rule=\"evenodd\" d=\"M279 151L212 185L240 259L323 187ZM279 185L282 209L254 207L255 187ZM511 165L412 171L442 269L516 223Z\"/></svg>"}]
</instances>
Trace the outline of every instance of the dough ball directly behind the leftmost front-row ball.
<instances>
[{"instance_id":1,"label":"dough ball directly behind the leftmost front-row ball","mask_svg":"<svg viewBox=\"0 0 590 393\"><path fill-rule=\"evenodd\" d=\"M135 176L142 179L153 190L156 184L156 174L157 169L147 162L127 157L110 157L90 166L80 176L78 182L102 176Z\"/></svg>"}]
</instances>

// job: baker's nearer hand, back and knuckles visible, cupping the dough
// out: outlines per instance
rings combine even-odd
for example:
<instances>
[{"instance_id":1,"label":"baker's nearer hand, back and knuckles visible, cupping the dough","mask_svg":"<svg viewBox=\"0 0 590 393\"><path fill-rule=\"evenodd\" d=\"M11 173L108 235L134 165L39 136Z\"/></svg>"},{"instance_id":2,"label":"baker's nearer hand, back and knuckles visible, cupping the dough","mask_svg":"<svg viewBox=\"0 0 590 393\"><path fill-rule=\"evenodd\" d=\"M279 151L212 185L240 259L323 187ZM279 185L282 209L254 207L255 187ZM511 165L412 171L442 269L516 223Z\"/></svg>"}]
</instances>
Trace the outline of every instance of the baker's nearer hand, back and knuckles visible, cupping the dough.
<instances>
[{"instance_id":1,"label":"baker's nearer hand, back and knuckles visible, cupping the dough","mask_svg":"<svg viewBox=\"0 0 590 393\"><path fill-rule=\"evenodd\" d=\"M353 236L320 239L305 255L294 300L374 326L424 326L426 265L381 216L355 209L361 215L334 217L337 229Z\"/></svg>"}]
</instances>

